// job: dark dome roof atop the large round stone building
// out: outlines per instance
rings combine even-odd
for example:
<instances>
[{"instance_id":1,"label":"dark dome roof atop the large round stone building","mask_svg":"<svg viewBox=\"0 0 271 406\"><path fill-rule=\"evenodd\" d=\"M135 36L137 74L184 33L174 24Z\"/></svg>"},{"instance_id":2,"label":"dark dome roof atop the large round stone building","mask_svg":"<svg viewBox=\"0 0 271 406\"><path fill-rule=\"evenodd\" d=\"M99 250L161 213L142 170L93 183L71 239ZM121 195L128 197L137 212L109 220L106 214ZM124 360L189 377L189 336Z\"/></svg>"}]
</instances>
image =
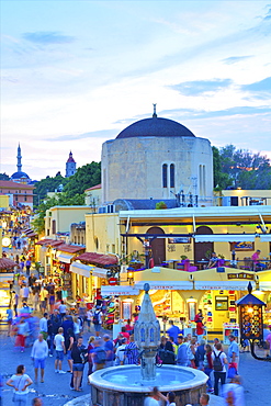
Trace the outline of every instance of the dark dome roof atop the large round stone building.
<instances>
[{"instance_id":1,"label":"dark dome roof atop the large round stone building","mask_svg":"<svg viewBox=\"0 0 271 406\"><path fill-rule=\"evenodd\" d=\"M131 137L195 137L184 125L173 120L154 115L151 119L139 120L124 128L116 138Z\"/></svg>"}]
</instances>

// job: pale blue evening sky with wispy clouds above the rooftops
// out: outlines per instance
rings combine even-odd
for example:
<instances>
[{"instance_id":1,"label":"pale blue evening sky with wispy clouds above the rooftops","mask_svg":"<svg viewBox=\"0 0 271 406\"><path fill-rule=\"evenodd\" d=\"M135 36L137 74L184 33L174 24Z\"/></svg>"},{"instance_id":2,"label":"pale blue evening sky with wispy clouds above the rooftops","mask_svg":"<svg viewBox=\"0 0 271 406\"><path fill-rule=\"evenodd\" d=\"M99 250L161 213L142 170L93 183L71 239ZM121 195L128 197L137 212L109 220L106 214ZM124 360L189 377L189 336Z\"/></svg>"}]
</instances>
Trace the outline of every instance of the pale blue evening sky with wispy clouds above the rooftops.
<instances>
[{"instance_id":1,"label":"pale blue evening sky with wispy clouds above the rooftops","mask_svg":"<svg viewBox=\"0 0 271 406\"><path fill-rule=\"evenodd\" d=\"M271 2L1 0L0 172L100 161L127 125L178 121L271 158Z\"/></svg>"}]
</instances>

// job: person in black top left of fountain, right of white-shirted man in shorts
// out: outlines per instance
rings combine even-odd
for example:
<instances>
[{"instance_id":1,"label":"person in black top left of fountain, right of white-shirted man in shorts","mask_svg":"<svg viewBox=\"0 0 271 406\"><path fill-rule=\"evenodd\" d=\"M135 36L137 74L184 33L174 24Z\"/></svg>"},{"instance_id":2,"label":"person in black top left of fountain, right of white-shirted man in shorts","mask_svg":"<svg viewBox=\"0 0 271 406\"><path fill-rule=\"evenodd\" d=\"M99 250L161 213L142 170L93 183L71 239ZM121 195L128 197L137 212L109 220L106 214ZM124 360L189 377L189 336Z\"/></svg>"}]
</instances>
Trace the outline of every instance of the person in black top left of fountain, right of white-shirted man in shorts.
<instances>
[{"instance_id":1,"label":"person in black top left of fountain, right of white-shirted man in shorts","mask_svg":"<svg viewBox=\"0 0 271 406\"><path fill-rule=\"evenodd\" d=\"M84 363L88 362L88 350L82 343L82 337L78 337L77 342L74 342L71 349L71 359L74 362L74 390L80 392L81 377L83 374Z\"/></svg>"}]
</instances>

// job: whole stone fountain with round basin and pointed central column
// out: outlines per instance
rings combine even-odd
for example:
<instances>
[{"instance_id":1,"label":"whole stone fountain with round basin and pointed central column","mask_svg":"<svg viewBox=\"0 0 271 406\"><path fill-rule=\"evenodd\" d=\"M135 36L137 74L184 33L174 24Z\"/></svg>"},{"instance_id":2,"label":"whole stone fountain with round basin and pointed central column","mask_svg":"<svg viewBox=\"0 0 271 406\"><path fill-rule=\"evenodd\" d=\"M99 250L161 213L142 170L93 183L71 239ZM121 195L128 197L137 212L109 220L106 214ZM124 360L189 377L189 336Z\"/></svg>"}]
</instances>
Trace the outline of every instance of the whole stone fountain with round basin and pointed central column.
<instances>
[{"instance_id":1,"label":"whole stone fountain with round basin and pointed central column","mask_svg":"<svg viewBox=\"0 0 271 406\"><path fill-rule=\"evenodd\" d=\"M156 353L160 343L160 326L144 285L145 295L138 320L135 323L135 342L140 353L140 365L111 366L89 376L92 404L95 406L142 406L154 386L177 395L177 405L199 404L206 390L207 376L187 366L156 366Z\"/></svg>"}]
</instances>

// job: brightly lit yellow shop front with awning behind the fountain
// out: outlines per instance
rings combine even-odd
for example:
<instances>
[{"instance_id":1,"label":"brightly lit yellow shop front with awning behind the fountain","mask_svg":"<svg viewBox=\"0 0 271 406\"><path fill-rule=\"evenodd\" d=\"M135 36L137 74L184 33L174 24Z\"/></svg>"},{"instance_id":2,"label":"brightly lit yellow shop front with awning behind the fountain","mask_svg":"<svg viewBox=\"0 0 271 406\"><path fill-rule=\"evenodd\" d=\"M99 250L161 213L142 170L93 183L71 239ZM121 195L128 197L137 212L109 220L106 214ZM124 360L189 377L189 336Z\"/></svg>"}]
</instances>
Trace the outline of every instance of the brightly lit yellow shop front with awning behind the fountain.
<instances>
[{"instance_id":1,"label":"brightly lit yellow shop front with awning behind the fountain","mask_svg":"<svg viewBox=\"0 0 271 406\"><path fill-rule=\"evenodd\" d=\"M199 309L202 309L205 336L208 340L218 337L227 342L230 332L239 339L236 301L247 294L249 282L255 290L261 285L266 286L266 293L259 294L264 302L268 300L270 302L267 322L271 316L271 283L269 282L271 271L266 271L263 274L263 272L244 272L238 269L221 268L184 272L155 267L134 272L133 280L133 286L139 290L139 294L132 303L132 313L140 306L144 283L148 282L154 309L160 320L172 319L174 324L184 329L185 334L189 330L194 332L194 317ZM118 287L121 286L115 286L114 290L117 291ZM168 328L168 324L163 326L165 328Z\"/></svg>"}]
</instances>

